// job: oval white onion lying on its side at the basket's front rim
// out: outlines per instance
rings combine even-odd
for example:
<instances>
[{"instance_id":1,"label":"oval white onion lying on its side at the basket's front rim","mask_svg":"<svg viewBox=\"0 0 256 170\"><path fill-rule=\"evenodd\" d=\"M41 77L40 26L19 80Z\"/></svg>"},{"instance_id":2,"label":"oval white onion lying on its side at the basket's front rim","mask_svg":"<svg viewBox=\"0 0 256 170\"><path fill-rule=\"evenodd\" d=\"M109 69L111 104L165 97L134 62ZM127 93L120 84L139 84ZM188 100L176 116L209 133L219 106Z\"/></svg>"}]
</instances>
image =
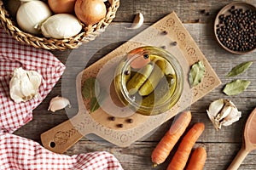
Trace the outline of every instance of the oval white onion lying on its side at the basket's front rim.
<instances>
[{"instance_id":1,"label":"oval white onion lying on its side at the basket's front rim","mask_svg":"<svg viewBox=\"0 0 256 170\"><path fill-rule=\"evenodd\" d=\"M82 26L72 14L55 14L44 21L41 30L45 37L61 39L77 35Z\"/></svg>"}]
</instances>

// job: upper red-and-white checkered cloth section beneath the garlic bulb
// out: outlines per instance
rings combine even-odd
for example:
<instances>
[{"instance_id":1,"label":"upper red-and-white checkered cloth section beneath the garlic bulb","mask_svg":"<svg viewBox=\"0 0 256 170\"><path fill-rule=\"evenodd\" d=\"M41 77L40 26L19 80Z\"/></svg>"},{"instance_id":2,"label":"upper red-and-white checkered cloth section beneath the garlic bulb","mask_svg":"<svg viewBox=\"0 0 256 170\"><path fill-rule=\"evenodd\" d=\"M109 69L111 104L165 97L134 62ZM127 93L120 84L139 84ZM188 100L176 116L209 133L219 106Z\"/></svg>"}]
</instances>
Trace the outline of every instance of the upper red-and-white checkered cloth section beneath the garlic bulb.
<instances>
[{"instance_id":1,"label":"upper red-and-white checkered cloth section beneath the garlic bulb","mask_svg":"<svg viewBox=\"0 0 256 170\"><path fill-rule=\"evenodd\" d=\"M15 68L38 71L43 76L40 97L16 104L9 97L9 81ZM0 28L0 132L13 133L32 120L32 110L49 94L65 71L65 65L49 51L21 44Z\"/></svg>"}]
</instances>

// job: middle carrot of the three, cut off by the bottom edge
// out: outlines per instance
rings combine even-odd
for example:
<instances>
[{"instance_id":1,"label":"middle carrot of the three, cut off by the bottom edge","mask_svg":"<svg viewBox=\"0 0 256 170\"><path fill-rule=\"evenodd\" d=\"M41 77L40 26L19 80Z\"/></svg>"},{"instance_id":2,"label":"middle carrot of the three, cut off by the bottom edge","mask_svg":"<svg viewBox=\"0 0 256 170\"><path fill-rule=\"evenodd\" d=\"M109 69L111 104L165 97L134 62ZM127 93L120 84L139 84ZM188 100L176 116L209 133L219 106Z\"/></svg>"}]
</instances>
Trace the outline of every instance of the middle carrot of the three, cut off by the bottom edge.
<instances>
[{"instance_id":1,"label":"middle carrot of the three, cut off by the bottom edge","mask_svg":"<svg viewBox=\"0 0 256 170\"><path fill-rule=\"evenodd\" d=\"M172 157L172 161L168 165L167 170L183 170L196 140L200 137L204 129L205 125L202 122L195 123L195 125L189 129L189 132L185 134L181 143L178 145L177 151Z\"/></svg>"}]
</instances>

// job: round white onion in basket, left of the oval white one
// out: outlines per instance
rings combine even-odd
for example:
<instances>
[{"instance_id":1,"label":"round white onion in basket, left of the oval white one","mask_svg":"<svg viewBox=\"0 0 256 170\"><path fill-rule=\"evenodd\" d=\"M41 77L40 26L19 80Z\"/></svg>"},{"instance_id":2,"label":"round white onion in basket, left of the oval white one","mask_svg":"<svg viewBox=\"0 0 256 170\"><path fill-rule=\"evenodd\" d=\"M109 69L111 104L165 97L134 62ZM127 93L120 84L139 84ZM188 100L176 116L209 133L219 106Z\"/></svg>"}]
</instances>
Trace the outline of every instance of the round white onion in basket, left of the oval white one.
<instances>
[{"instance_id":1,"label":"round white onion in basket, left of the oval white one","mask_svg":"<svg viewBox=\"0 0 256 170\"><path fill-rule=\"evenodd\" d=\"M39 26L49 18L51 11L48 5L42 1L29 1L22 3L16 14L18 25L23 31L38 35Z\"/></svg>"}]
</instances>

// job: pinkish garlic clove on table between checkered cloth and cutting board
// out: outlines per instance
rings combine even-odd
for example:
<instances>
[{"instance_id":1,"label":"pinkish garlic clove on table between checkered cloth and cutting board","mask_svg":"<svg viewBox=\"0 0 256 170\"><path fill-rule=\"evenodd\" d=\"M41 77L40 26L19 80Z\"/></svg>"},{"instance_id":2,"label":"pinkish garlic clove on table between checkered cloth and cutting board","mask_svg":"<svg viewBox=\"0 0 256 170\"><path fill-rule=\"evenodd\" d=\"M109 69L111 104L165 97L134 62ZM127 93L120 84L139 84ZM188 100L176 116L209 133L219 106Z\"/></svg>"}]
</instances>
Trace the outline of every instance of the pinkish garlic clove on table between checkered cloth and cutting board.
<instances>
[{"instance_id":1,"label":"pinkish garlic clove on table between checkered cloth and cutting board","mask_svg":"<svg viewBox=\"0 0 256 170\"><path fill-rule=\"evenodd\" d=\"M48 111L52 111L52 112L59 111L67 107L67 105L68 107L71 107L68 99L56 96L55 98L50 100Z\"/></svg>"}]
</instances>

